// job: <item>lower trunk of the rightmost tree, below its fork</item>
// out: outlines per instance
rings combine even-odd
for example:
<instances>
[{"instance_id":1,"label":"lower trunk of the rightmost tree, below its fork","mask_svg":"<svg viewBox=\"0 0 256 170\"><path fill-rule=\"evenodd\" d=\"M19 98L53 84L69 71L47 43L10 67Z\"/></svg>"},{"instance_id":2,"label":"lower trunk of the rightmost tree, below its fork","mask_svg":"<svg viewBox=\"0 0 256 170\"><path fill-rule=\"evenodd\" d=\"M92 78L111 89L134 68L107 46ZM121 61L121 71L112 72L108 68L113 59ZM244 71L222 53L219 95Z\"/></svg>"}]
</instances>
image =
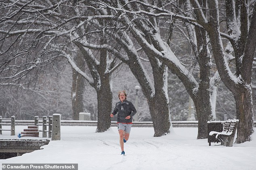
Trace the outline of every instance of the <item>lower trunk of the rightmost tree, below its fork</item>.
<instances>
[{"instance_id":1,"label":"lower trunk of the rightmost tree, below its fork","mask_svg":"<svg viewBox=\"0 0 256 170\"><path fill-rule=\"evenodd\" d=\"M237 127L236 143L250 141L253 131L253 108L252 108L252 90L251 88L243 88L235 97L237 119L239 119Z\"/></svg>"}]
</instances>

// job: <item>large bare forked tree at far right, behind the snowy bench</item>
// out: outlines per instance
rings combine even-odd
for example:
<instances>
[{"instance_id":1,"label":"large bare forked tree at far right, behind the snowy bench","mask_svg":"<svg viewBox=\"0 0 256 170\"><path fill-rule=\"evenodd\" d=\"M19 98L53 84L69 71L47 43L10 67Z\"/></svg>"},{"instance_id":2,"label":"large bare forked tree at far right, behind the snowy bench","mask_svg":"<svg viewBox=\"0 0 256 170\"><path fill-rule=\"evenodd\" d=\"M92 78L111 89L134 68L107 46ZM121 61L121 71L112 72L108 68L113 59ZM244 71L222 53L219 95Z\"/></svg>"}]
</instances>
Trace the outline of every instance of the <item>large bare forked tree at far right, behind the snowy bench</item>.
<instances>
[{"instance_id":1,"label":"large bare forked tree at far right, behind the snowy bench","mask_svg":"<svg viewBox=\"0 0 256 170\"><path fill-rule=\"evenodd\" d=\"M214 53L214 59L220 77L224 84L231 90L236 101L237 119L239 119L237 130L237 143L250 141L250 135L254 132L253 110L252 110L252 62L255 54L256 44L256 4L254 4L252 19L249 25L248 3L240 1L240 17L236 15L235 1L226 1L227 28L229 40L235 51L236 73L232 74L223 51L220 39L218 2L209 3L210 20L200 20L201 25L207 30ZM238 6L236 6L238 7ZM204 17L201 13L200 18ZM237 23L241 23L240 33Z\"/></svg>"}]
</instances>

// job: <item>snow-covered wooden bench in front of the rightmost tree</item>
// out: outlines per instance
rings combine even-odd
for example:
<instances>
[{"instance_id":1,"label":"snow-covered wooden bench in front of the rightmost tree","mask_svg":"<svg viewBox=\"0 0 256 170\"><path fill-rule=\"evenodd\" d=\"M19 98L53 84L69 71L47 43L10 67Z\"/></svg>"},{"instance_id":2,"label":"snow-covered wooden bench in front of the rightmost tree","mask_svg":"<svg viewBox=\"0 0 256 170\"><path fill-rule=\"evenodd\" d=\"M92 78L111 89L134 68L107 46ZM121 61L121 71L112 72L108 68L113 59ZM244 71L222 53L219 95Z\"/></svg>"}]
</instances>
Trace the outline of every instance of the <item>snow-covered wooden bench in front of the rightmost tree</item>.
<instances>
[{"instance_id":1,"label":"snow-covered wooden bench in front of the rightmost tree","mask_svg":"<svg viewBox=\"0 0 256 170\"><path fill-rule=\"evenodd\" d=\"M222 132L211 131L209 135L216 134L215 138L220 140L221 145L233 146L238 122L238 119L229 119L225 121Z\"/></svg>"}]
</instances>

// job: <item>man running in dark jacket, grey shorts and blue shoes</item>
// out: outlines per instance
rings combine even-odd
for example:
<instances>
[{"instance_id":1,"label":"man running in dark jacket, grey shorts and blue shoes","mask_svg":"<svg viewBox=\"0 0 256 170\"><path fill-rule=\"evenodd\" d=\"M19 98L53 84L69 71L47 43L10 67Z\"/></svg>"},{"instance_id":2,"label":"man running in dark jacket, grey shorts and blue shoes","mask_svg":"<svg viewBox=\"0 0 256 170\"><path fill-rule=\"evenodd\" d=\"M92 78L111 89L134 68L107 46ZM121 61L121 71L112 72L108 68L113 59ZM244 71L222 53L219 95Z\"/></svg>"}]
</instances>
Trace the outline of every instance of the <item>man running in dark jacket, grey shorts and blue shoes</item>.
<instances>
[{"instance_id":1,"label":"man running in dark jacket, grey shorts and blue shoes","mask_svg":"<svg viewBox=\"0 0 256 170\"><path fill-rule=\"evenodd\" d=\"M115 109L113 113L110 114L110 117L113 117L118 113L118 132L120 136L120 147L122 150L121 155L124 155L124 143L128 141L131 127L132 127L132 116L136 114L136 109L132 102L126 100L126 92L120 91L118 93L118 98L120 102L115 104Z\"/></svg>"}]
</instances>

